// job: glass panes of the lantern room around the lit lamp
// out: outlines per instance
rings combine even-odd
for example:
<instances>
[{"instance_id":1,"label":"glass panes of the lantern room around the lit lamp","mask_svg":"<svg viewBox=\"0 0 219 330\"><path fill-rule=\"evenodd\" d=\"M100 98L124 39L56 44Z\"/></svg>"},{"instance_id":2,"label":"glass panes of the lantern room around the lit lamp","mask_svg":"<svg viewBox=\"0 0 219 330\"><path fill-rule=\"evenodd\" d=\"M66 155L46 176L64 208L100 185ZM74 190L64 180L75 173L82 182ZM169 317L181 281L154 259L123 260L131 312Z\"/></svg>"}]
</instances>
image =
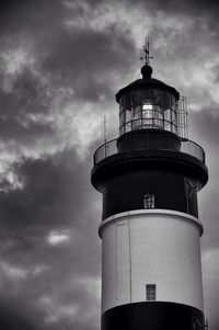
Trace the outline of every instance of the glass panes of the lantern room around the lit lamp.
<instances>
[{"instance_id":1,"label":"glass panes of the lantern room around the lit lamp","mask_svg":"<svg viewBox=\"0 0 219 330\"><path fill-rule=\"evenodd\" d=\"M134 90L120 98L120 135L147 128L177 134L177 101L170 92L147 88Z\"/></svg>"}]
</instances>

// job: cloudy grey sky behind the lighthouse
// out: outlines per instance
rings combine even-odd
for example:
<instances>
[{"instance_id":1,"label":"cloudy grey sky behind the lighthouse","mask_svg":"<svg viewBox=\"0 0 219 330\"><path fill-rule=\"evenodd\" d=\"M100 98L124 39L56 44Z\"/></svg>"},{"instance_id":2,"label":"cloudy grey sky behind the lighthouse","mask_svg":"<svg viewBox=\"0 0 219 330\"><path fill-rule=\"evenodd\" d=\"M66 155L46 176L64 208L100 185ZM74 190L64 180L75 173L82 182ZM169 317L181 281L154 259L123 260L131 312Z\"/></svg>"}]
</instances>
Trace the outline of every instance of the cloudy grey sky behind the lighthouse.
<instances>
[{"instance_id":1,"label":"cloudy grey sky behind the lighthouse","mask_svg":"<svg viewBox=\"0 0 219 330\"><path fill-rule=\"evenodd\" d=\"M101 195L93 153L118 130L116 92L153 77L186 95L206 150L199 193L205 312L219 315L219 2L0 1L0 328L96 330Z\"/></svg>"}]
</instances>

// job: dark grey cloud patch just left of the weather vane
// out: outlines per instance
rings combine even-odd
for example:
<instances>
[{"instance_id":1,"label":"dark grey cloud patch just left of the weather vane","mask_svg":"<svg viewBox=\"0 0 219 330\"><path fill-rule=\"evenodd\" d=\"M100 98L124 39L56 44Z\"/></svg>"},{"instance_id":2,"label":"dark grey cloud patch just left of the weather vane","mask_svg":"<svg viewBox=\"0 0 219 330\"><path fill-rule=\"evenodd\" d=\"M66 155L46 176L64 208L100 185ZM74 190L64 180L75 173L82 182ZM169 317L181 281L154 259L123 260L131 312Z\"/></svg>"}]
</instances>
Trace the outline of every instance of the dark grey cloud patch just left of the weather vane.
<instances>
[{"instance_id":1,"label":"dark grey cloud patch just left of the weather vane","mask_svg":"<svg viewBox=\"0 0 219 330\"><path fill-rule=\"evenodd\" d=\"M104 32L79 27L62 31L50 44L43 68L57 79L65 77L64 83L72 87L76 99L97 101L102 94L112 96L113 75L130 67L135 54L128 33L118 27L112 25Z\"/></svg>"}]
</instances>

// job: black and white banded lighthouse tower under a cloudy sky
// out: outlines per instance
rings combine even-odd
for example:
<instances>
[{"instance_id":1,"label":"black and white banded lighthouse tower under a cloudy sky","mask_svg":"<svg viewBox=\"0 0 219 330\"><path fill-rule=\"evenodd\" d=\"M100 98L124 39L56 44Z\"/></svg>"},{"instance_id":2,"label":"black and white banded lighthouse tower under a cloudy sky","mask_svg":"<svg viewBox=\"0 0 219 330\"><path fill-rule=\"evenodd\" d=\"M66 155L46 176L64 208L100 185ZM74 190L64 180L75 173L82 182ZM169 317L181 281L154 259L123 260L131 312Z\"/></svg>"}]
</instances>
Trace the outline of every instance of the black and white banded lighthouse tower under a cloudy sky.
<instances>
[{"instance_id":1,"label":"black and white banded lighthouse tower under a cloudy sky","mask_svg":"<svg viewBox=\"0 0 219 330\"><path fill-rule=\"evenodd\" d=\"M185 99L152 78L120 89L119 136L94 153L103 194L102 330L203 330L205 152L187 138Z\"/></svg>"}]
</instances>

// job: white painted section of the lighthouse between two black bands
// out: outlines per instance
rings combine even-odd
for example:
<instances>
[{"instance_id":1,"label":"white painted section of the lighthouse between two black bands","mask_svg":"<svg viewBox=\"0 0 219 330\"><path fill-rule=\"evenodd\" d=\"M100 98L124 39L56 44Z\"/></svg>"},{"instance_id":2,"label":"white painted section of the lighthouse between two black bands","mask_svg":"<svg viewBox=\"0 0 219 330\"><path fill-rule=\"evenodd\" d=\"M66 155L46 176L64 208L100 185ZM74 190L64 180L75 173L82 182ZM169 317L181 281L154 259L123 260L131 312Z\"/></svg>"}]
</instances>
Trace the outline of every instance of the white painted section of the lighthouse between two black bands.
<instances>
[{"instance_id":1,"label":"white painted section of the lighthouse between two black bands","mask_svg":"<svg viewBox=\"0 0 219 330\"><path fill-rule=\"evenodd\" d=\"M146 284L157 284L157 300L203 310L199 236L201 223L166 209L117 214L100 226L102 312L146 301Z\"/></svg>"}]
</instances>

